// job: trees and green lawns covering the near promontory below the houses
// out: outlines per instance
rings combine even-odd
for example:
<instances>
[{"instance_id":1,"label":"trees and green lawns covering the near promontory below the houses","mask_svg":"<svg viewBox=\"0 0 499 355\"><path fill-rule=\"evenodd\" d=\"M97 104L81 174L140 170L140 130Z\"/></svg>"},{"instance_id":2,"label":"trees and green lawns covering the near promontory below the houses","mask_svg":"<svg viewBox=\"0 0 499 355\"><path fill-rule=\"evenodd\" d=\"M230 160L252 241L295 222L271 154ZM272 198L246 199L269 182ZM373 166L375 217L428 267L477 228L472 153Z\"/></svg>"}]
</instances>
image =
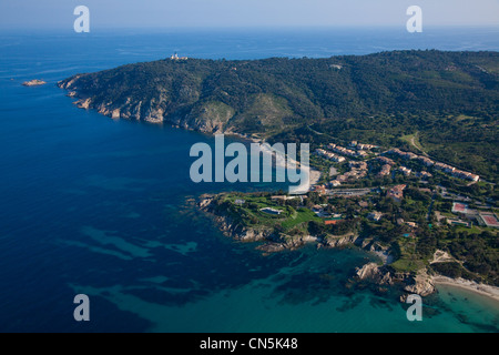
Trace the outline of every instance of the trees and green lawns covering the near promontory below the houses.
<instances>
[{"instance_id":1,"label":"trees and green lawns covering the near promontory below the houses","mask_svg":"<svg viewBox=\"0 0 499 355\"><path fill-rule=\"evenodd\" d=\"M376 244L389 251L395 272L416 274L429 267L434 272L454 277L499 285L498 231L479 226L451 226L440 215L459 219L450 212L451 202L434 199L426 191L409 184L404 200L395 202L386 192L370 193L361 197L339 197L308 193L302 199L272 199L269 193L225 193L215 197L218 215L247 227L266 229L282 241L294 236L313 235L327 244L332 237L353 234L364 245ZM283 196L283 195L281 195ZM430 206L432 205L430 211ZM320 216L313 211L320 206ZM269 215L262 209L282 211ZM375 222L369 219L374 211L383 213ZM340 216L336 224L326 221ZM429 226L431 224L431 227ZM459 263L430 264L437 250L445 251Z\"/></svg>"}]
</instances>

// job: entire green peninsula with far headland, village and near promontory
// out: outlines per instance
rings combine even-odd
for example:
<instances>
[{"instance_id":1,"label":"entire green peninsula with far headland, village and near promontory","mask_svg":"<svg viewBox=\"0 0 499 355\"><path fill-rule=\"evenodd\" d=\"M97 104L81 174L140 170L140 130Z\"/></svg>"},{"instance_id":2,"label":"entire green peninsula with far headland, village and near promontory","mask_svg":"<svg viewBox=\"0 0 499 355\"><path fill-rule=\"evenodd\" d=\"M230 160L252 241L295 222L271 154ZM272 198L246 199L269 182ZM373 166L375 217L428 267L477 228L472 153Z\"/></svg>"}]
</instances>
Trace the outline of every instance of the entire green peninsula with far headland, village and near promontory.
<instances>
[{"instance_id":1,"label":"entire green peninsula with far headland, village and near promontory","mask_svg":"<svg viewBox=\"0 0 499 355\"><path fill-rule=\"evenodd\" d=\"M421 295L442 276L499 286L497 52L166 58L58 85L113 119L309 143L322 175L307 194L200 201L225 234L264 253L355 245L383 261L358 280Z\"/></svg>"}]
</instances>

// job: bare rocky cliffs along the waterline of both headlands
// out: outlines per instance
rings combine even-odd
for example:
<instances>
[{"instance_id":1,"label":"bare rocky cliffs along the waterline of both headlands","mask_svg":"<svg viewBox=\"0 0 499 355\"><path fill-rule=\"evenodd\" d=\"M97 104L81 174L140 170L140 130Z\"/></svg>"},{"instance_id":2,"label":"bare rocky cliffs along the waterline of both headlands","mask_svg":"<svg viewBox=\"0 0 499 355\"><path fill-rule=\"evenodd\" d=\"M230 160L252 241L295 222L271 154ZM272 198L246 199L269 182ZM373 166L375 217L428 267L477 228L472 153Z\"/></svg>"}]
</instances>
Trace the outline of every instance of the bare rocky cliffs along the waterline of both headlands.
<instances>
[{"instance_id":1,"label":"bare rocky cliffs along the waterline of both headlands","mask_svg":"<svg viewBox=\"0 0 499 355\"><path fill-rule=\"evenodd\" d=\"M83 75L74 75L70 79L61 81L58 87L69 91L68 95L78 99L73 102L78 108L85 110L95 110L100 114L110 116L112 119L128 119L138 120L149 123L169 123L176 128L186 130L194 130L204 133L225 133L240 135L235 126L226 125L227 120L234 114L231 110L214 110L211 106L203 106L201 111L171 111L164 110L166 95L163 92L159 99L151 101L132 100L126 97L120 102L113 102L102 97L86 94L82 89L85 88L84 82L80 82ZM189 95L189 92L183 94ZM241 134L242 138L254 140ZM261 141L261 140L255 140ZM319 239L313 235L293 235L282 236L265 226L247 227L240 223L231 221L228 216L217 215L211 209L210 196L204 196L200 202L201 210L212 214L218 224L224 235L242 242L261 242L257 246L263 253L275 253L286 250L296 250L306 244L315 243L317 247L347 247L355 245L363 250L376 253L384 260L383 265L367 264L358 268L354 278L358 281L373 282L380 286L397 285L404 291L400 297L401 302L407 300L409 294L418 294L420 296L428 296L437 292L436 284L438 278L431 274L427 268L418 270L416 273L397 273L389 266L389 250L383 248L371 240L364 240L355 234L328 236L327 239ZM472 287L471 287L472 288Z\"/></svg>"}]
</instances>

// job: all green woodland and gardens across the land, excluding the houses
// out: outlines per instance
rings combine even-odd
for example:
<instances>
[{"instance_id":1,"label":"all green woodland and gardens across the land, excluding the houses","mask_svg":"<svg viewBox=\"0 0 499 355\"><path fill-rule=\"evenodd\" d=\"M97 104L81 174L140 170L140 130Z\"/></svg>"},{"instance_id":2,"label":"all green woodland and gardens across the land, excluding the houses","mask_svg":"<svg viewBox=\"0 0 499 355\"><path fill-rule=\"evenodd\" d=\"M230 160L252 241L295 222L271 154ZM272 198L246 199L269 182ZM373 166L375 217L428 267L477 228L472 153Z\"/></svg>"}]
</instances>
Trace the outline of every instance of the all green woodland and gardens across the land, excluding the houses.
<instances>
[{"instance_id":1,"label":"all green woodland and gardens across the land, excluding the houses","mask_svg":"<svg viewBox=\"0 0 499 355\"><path fill-rule=\"evenodd\" d=\"M355 140L424 151L436 161L499 182L497 52L393 51L252 61L167 59L80 74L60 85L80 99L90 99L91 109L108 114L120 110L122 118L154 116L204 132L237 132L271 143L310 143L313 149ZM422 168L394 160L415 171ZM340 173L348 170L348 163L333 164L315 156L312 162L324 173L323 181L330 166ZM444 220L458 216L451 213L450 201L420 190L435 191L439 185L497 209L497 184L471 184L431 169L425 169L434 175L426 182L399 173L377 178L380 168L369 162L367 179L348 182L355 187L383 186L379 194L343 199L309 193L303 203L272 200L265 193L221 194L214 212L284 239L358 234L388 248L395 258L391 267L400 272L427 267L434 253L442 250L462 265L435 264L434 271L499 284L497 230L437 221L435 211L441 212ZM408 185L401 202L386 196L386 189L397 183ZM326 215L342 215L342 221L326 225L325 217L312 211L314 205L323 205ZM281 214L261 211L266 207ZM378 222L368 219L375 211L384 214Z\"/></svg>"}]
</instances>

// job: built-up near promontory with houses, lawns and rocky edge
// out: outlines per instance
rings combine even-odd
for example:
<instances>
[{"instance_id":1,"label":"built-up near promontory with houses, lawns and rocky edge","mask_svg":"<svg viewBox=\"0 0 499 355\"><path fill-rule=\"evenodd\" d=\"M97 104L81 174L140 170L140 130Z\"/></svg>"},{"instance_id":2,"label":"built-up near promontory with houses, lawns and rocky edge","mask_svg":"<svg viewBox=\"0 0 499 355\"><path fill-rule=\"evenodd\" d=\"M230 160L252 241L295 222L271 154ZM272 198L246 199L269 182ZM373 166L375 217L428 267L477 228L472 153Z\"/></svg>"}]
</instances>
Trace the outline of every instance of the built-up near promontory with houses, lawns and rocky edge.
<instances>
[{"instance_id":1,"label":"built-up near promontory with houses, lawns and rocky edge","mask_svg":"<svg viewBox=\"0 0 499 355\"><path fill-rule=\"evenodd\" d=\"M452 277L499 282L493 267L481 266L495 265L499 219L477 174L358 142L318 146L310 165L322 178L307 194L232 192L207 196L202 205L218 216L225 233L266 241L265 252L355 244L396 272L438 268ZM473 189L478 192L468 193ZM461 260L431 262L439 251Z\"/></svg>"}]
</instances>

